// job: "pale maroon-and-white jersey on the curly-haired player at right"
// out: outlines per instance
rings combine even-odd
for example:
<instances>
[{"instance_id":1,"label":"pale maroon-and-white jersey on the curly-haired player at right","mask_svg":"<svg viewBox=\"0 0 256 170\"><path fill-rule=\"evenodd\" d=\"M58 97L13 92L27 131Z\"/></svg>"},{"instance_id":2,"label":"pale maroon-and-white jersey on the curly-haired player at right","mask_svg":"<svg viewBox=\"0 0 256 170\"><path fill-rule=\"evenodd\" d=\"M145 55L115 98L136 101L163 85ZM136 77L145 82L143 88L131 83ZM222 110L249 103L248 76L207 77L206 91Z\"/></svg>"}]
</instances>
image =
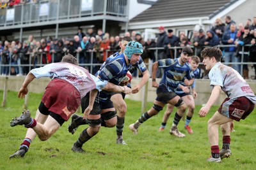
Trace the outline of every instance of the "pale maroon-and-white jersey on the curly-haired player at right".
<instances>
[{"instance_id":1,"label":"pale maroon-and-white jersey on the curly-haired player at right","mask_svg":"<svg viewBox=\"0 0 256 170\"><path fill-rule=\"evenodd\" d=\"M232 67L217 62L209 72L211 86L219 85L230 98L247 97L256 103L256 96L243 77Z\"/></svg>"}]
</instances>

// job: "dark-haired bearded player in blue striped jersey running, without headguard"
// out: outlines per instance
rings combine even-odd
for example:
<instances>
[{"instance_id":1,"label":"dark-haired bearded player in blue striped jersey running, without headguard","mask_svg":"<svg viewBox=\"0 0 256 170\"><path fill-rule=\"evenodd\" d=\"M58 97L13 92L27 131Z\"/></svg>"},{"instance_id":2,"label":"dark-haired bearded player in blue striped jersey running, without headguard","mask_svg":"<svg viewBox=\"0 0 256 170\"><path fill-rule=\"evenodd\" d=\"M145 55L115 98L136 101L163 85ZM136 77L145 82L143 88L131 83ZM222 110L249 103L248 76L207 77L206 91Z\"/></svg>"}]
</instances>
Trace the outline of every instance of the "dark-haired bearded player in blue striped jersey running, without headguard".
<instances>
[{"instance_id":1,"label":"dark-haired bearded player in blue striped jersey running, without headguard","mask_svg":"<svg viewBox=\"0 0 256 170\"><path fill-rule=\"evenodd\" d=\"M192 54L193 50L186 46L182 48L179 59L163 59L154 62L152 66L152 87L157 88L157 97L152 108L143 113L134 124L129 125L129 129L131 129L134 134L138 134L138 128L143 122L157 115L159 111L163 110L165 104L170 103L178 108L175 113L170 134L181 138L184 137L184 134L178 131L177 125L179 124L180 118L184 115L187 105L180 96L175 94L175 89L177 89L178 85L185 79L188 80L188 86L193 84L193 73L191 72L191 66L188 64L188 59ZM164 69L164 74L159 84L156 82L156 72L158 68ZM189 92L189 87L184 87L182 90Z\"/></svg>"}]
</instances>

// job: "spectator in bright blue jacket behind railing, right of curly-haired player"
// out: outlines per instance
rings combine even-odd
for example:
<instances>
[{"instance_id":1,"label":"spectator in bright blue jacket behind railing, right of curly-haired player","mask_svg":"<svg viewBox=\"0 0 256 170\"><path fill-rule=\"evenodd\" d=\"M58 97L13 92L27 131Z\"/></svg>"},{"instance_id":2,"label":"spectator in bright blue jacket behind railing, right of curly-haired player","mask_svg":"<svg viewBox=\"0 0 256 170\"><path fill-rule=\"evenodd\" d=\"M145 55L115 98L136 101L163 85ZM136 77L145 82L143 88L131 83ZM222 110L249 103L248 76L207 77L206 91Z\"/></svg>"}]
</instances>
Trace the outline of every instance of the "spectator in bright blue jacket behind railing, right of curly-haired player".
<instances>
[{"instance_id":1,"label":"spectator in bright blue jacket behind railing, right of curly-haired player","mask_svg":"<svg viewBox=\"0 0 256 170\"><path fill-rule=\"evenodd\" d=\"M221 42L223 45L235 45L234 42L237 38L237 31L236 31L236 24L230 25L230 30L226 31L222 38ZM223 50L225 51L225 63L227 62L237 62L236 57L236 46L229 46L229 47L223 47ZM236 71L239 71L237 64L229 64L228 66L232 66L233 69L236 69Z\"/></svg>"}]
</instances>

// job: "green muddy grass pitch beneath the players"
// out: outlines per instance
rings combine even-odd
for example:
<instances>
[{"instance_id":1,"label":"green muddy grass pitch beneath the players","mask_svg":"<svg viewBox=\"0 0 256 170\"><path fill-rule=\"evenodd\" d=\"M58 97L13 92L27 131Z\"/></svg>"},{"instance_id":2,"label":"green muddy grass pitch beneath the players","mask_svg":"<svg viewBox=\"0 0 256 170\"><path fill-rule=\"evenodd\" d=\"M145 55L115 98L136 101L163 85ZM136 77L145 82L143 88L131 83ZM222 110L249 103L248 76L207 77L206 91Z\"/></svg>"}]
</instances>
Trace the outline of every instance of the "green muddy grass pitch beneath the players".
<instances>
[{"instance_id":1,"label":"green muddy grass pitch beneath the players","mask_svg":"<svg viewBox=\"0 0 256 170\"><path fill-rule=\"evenodd\" d=\"M100 129L83 148L85 154L71 150L79 133L86 127L79 127L72 135L67 127L70 120L47 141L36 138L31 143L29 152L22 159L9 159L19 149L26 134L23 126L10 127L10 120L18 117L22 111L24 100L17 98L17 92L8 92L5 108L0 108L0 169L255 169L256 167L256 110L246 120L235 122L235 132L231 134L232 157L223 159L221 164L206 162L210 155L207 138L207 120L218 107L213 107L205 118L198 117L200 106L196 106L191 121L194 134L184 130L184 121L180 121L179 129L186 138L170 136L169 130L173 121L171 115L166 129L158 131L163 111L141 125L139 134L134 136L129 130L140 117L141 103L127 100L127 116L125 118L124 139L127 146L116 145L115 128ZM40 103L42 94L29 94L29 110L32 117ZM199 96L200 97L200 96ZM3 99L3 91L0 91ZM148 108L152 103L148 103ZM222 139L222 137L221 137ZM222 146L222 145L221 145Z\"/></svg>"}]
</instances>

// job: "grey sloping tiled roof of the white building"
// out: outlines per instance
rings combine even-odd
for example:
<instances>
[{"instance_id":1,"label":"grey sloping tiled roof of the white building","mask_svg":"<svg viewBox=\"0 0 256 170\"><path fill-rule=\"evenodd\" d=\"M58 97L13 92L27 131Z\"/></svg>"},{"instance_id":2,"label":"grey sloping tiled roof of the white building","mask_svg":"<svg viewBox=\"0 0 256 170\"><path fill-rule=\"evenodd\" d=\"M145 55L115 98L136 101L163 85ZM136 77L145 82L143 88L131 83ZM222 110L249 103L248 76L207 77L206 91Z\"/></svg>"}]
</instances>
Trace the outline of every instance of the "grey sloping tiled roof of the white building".
<instances>
[{"instance_id":1,"label":"grey sloping tiled roof of the white building","mask_svg":"<svg viewBox=\"0 0 256 170\"><path fill-rule=\"evenodd\" d=\"M209 17L225 10L239 0L159 0L130 22L172 20L177 18Z\"/></svg>"}]
</instances>

